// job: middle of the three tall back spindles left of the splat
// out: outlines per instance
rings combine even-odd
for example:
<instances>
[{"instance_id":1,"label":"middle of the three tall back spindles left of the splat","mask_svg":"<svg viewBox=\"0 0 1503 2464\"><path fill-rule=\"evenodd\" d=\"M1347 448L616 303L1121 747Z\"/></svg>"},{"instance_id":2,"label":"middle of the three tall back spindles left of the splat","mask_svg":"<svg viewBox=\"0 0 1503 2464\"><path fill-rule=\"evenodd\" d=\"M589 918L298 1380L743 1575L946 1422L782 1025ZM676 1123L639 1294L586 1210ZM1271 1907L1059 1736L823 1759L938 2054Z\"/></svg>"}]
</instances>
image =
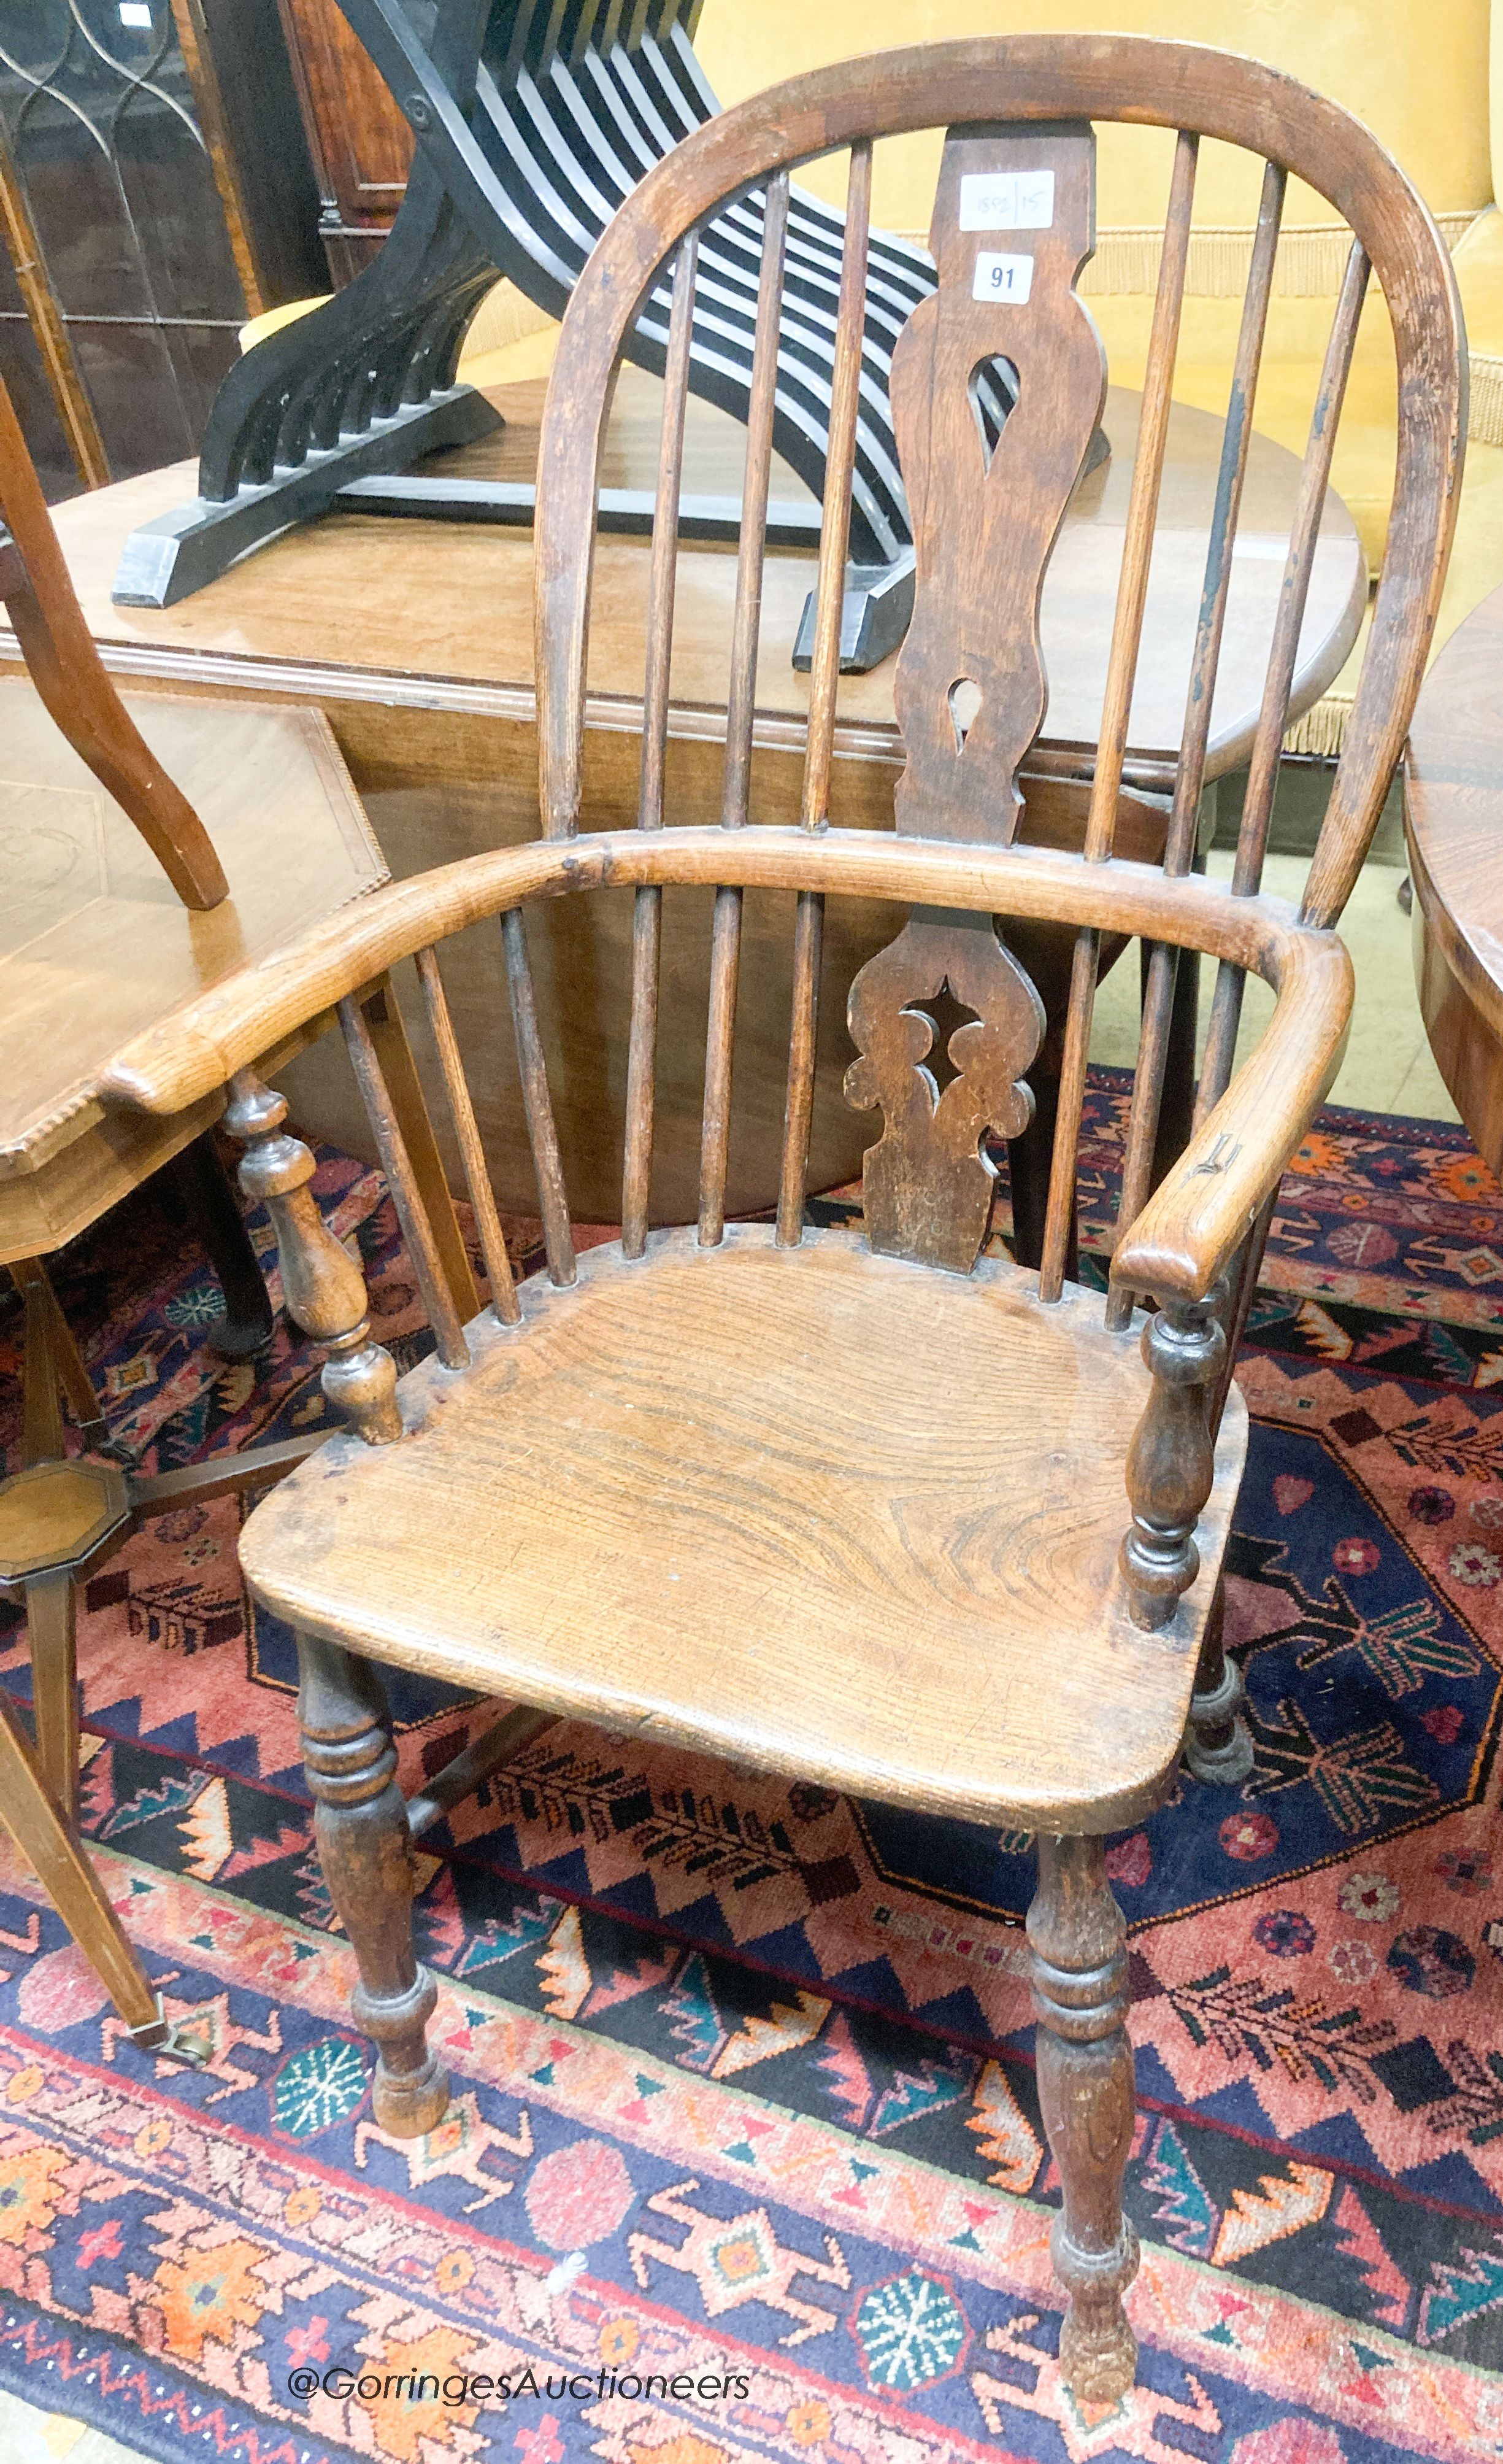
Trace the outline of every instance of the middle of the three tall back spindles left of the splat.
<instances>
[{"instance_id":1,"label":"middle of the three tall back spindles left of the splat","mask_svg":"<svg viewBox=\"0 0 1503 2464\"><path fill-rule=\"evenodd\" d=\"M784 261L788 251L788 172L766 182L761 222L761 276L756 283L756 342L752 350L752 399L747 404L747 473L742 483L742 545L737 552L737 606L732 616L732 665L724 722L724 781L719 821L727 830L747 823L752 803L752 722L756 715L756 641L761 631L761 569L766 562L766 493L771 478L771 424L779 392L779 323ZM715 892L710 939L710 1025L705 1032L705 1124L700 1136L700 1244L724 1237L724 1173L732 1129L732 1045L737 1032L737 983L742 973L742 892Z\"/></svg>"}]
</instances>

